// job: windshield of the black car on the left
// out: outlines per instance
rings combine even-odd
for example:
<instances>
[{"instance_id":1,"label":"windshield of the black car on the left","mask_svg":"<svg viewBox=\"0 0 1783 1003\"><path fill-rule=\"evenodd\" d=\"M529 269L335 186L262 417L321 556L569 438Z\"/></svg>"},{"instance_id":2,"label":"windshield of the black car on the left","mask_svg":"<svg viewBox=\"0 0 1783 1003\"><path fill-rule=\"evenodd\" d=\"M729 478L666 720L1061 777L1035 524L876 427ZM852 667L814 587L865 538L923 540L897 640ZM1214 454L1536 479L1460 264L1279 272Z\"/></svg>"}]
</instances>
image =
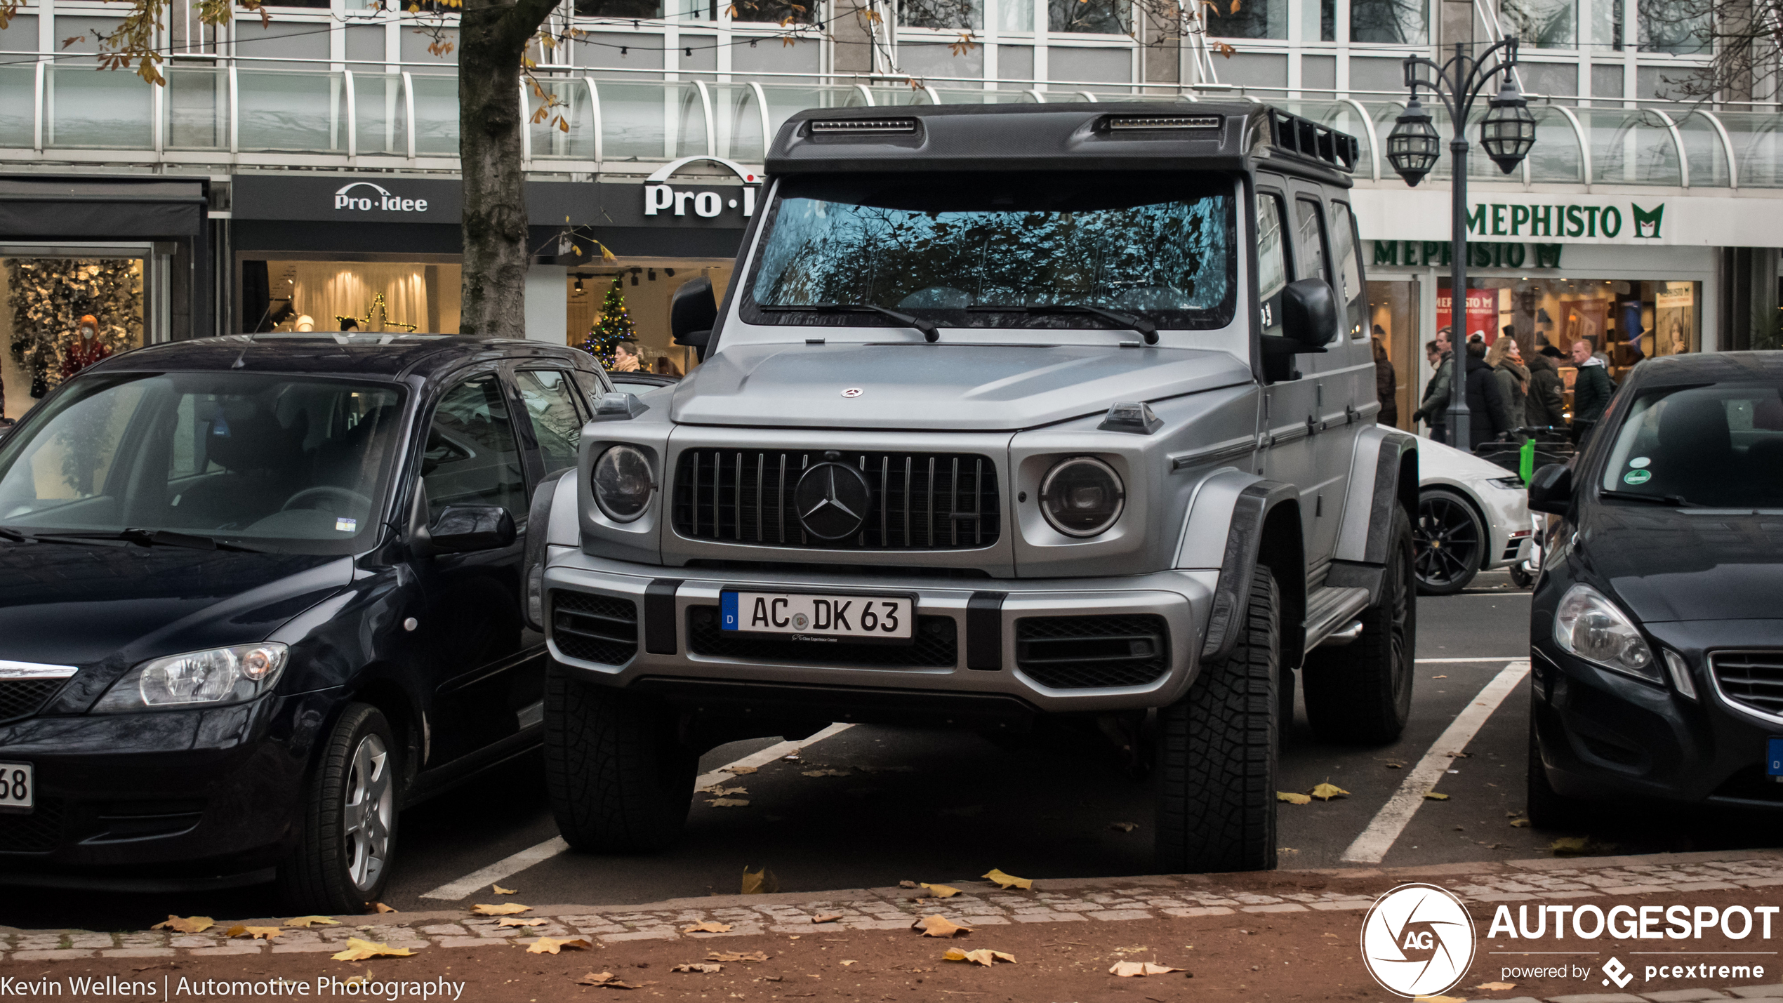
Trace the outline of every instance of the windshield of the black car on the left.
<instances>
[{"instance_id":1,"label":"windshield of the black car on the left","mask_svg":"<svg viewBox=\"0 0 1783 1003\"><path fill-rule=\"evenodd\" d=\"M0 440L0 527L349 554L376 529L401 401L380 383L94 374Z\"/></svg>"}]
</instances>

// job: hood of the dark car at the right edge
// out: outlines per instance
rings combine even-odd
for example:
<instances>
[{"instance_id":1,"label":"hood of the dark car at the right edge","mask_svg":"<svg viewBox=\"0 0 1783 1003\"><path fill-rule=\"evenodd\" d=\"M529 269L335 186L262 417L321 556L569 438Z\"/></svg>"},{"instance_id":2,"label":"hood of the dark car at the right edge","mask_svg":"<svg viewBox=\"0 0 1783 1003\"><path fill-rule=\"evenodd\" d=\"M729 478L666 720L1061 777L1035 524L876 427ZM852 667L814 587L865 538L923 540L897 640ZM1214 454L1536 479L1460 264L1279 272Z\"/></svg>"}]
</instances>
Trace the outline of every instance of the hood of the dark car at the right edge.
<instances>
[{"instance_id":1,"label":"hood of the dark car at the right edge","mask_svg":"<svg viewBox=\"0 0 1783 1003\"><path fill-rule=\"evenodd\" d=\"M1783 618L1783 515L1590 502L1578 540L1637 620Z\"/></svg>"}]
</instances>

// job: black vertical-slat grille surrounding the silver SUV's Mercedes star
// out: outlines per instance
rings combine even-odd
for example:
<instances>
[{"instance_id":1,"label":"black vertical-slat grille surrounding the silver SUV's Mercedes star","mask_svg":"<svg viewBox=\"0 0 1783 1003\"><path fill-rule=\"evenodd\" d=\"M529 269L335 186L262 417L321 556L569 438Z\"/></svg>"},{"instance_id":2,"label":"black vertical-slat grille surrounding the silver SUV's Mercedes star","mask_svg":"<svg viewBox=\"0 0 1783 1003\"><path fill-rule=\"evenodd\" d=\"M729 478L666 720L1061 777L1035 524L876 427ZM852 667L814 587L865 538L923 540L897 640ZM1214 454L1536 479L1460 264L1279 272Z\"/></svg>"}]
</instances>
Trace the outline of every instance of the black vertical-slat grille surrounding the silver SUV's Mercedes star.
<instances>
[{"instance_id":1,"label":"black vertical-slat grille surrounding the silver SUV's Mercedes star","mask_svg":"<svg viewBox=\"0 0 1783 1003\"><path fill-rule=\"evenodd\" d=\"M822 453L688 449L676 463L674 531L688 540L827 550L990 547L1002 524L997 465L968 453L842 453L872 490L861 531L818 540L799 524L793 488Z\"/></svg>"}]
</instances>

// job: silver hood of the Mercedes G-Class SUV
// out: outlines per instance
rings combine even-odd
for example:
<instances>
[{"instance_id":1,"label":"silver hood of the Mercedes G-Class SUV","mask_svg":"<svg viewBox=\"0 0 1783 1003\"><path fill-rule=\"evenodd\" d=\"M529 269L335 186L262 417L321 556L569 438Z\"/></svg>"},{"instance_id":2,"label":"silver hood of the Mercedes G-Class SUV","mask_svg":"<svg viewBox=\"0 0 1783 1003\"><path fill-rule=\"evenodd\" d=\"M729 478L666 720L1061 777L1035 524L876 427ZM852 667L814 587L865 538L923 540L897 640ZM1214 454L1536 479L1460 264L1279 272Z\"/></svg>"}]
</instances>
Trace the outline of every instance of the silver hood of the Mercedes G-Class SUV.
<instances>
[{"instance_id":1,"label":"silver hood of the Mercedes G-Class SUV","mask_svg":"<svg viewBox=\"0 0 1783 1003\"><path fill-rule=\"evenodd\" d=\"M1250 365L1212 349L742 344L695 369L670 415L683 424L998 431L1250 379Z\"/></svg>"}]
</instances>

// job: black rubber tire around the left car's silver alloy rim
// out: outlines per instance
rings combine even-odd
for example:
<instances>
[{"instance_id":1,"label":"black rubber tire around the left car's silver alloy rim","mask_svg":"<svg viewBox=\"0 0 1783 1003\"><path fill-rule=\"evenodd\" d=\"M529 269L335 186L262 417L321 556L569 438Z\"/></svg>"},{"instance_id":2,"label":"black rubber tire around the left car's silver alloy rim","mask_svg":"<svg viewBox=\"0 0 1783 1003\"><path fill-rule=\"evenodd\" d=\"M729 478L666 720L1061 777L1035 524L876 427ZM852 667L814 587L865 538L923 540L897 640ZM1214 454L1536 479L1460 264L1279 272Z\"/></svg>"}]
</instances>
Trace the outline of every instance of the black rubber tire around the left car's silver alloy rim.
<instances>
[{"instance_id":1,"label":"black rubber tire around the left car's silver alloy rim","mask_svg":"<svg viewBox=\"0 0 1783 1003\"><path fill-rule=\"evenodd\" d=\"M278 893L287 910L321 916L358 914L367 901L378 901L390 880L390 860L396 850L396 811L389 818L389 850L380 873L369 887L357 887L348 869L351 841L346 834L346 795L353 770L353 754L366 736L383 739L389 757L383 773L396 784L396 805L401 805L401 748L390 732L383 711L371 704L348 704L323 739L316 768L303 784L303 803L298 809L298 844L278 866Z\"/></svg>"}]
</instances>

